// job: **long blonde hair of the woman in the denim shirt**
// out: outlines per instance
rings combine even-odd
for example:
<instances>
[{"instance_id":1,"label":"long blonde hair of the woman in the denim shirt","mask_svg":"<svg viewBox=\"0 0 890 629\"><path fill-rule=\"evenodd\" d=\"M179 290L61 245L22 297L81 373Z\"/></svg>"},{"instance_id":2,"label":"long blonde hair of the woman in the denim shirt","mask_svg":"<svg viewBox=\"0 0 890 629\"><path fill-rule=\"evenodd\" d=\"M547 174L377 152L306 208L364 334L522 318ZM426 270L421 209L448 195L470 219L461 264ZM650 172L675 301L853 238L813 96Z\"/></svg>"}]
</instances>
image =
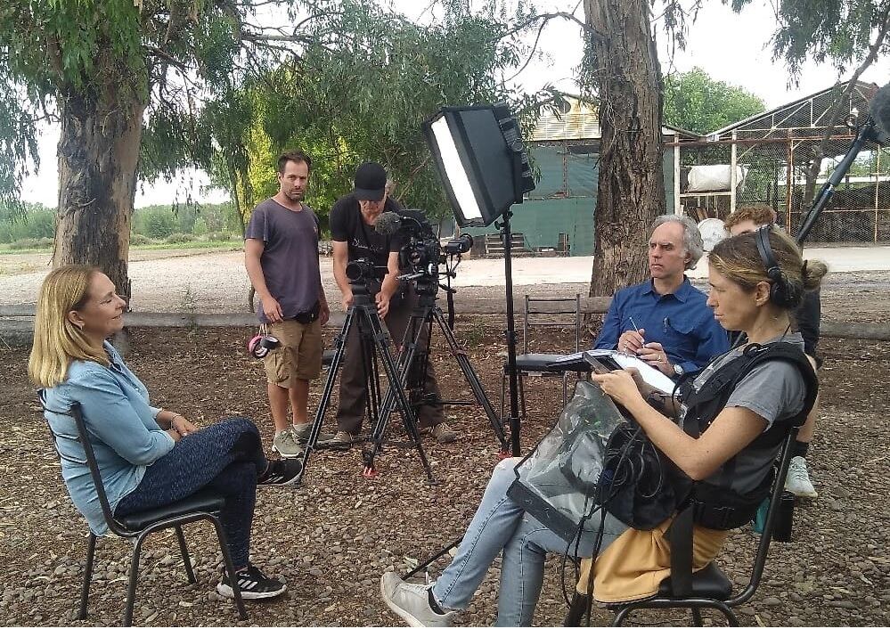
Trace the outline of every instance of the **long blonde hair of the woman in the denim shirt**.
<instances>
[{"instance_id":1,"label":"long blonde hair of the woman in the denim shirt","mask_svg":"<svg viewBox=\"0 0 890 629\"><path fill-rule=\"evenodd\" d=\"M40 287L34 345L28 359L28 376L38 387L51 388L64 382L74 360L109 365L105 352L93 347L86 334L68 318L70 311L79 310L86 303L90 281L97 273L100 271L95 266L60 266L46 276Z\"/></svg>"}]
</instances>

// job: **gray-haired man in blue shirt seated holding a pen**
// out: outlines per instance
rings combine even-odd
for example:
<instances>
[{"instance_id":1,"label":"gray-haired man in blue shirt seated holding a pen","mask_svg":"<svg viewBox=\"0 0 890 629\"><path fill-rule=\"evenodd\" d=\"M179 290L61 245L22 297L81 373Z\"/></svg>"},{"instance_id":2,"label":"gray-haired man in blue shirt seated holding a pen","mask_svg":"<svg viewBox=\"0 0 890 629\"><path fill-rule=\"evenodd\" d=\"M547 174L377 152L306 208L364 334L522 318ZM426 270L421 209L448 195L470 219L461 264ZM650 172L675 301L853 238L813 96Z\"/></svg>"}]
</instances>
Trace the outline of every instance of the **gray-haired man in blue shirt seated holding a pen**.
<instances>
[{"instance_id":1,"label":"gray-haired man in blue shirt seated holding a pen","mask_svg":"<svg viewBox=\"0 0 890 629\"><path fill-rule=\"evenodd\" d=\"M665 214L649 236L651 279L616 292L594 347L637 355L662 373L698 372L730 348L706 295L684 271L702 256L701 234L687 216Z\"/></svg>"}]
</instances>

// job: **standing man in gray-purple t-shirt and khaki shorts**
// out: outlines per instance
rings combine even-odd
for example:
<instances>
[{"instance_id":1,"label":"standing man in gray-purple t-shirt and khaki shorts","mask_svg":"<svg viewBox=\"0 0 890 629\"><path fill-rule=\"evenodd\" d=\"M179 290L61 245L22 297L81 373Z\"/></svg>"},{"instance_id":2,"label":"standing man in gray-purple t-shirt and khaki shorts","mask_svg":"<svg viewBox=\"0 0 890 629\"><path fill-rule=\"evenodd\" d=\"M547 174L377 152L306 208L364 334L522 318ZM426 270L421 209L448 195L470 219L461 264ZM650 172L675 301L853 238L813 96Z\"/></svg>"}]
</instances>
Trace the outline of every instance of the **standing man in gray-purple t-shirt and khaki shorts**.
<instances>
[{"instance_id":1,"label":"standing man in gray-purple t-shirt and khaki shorts","mask_svg":"<svg viewBox=\"0 0 890 629\"><path fill-rule=\"evenodd\" d=\"M309 380L322 369L322 326L330 315L318 267L318 219L303 202L311 167L303 151L283 153L280 190L257 205L244 234L244 265L260 299L257 315L279 342L264 362L275 422L272 449L284 458L298 456L299 442L309 436ZM331 438L321 434L318 443Z\"/></svg>"}]
</instances>

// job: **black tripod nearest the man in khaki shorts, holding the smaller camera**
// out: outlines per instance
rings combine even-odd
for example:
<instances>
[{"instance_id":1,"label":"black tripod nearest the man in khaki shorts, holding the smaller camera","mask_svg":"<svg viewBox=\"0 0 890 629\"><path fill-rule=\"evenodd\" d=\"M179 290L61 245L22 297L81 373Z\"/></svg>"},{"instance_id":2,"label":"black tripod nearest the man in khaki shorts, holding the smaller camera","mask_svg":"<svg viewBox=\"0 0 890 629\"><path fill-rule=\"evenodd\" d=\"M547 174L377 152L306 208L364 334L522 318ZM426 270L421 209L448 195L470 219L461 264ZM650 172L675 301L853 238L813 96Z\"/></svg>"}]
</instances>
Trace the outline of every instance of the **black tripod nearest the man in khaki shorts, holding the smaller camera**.
<instances>
[{"instance_id":1,"label":"black tripod nearest the man in khaki shorts, holding the smaller camera","mask_svg":"<svg viewBox=\"0 0 890 629\"><path fill-rule=\"evenodd\" d=\"M336 351L331 360L331 367L328 372L328 379L324 382L322 399L318 403L318 410L315 412L315 419L312 423L312 429L309 430L309 437L306 440L306 451L303 453L303 470L300 472L300 480L306 473L306 464L309 461L309 455L315 449L318 442L318 435L322 431L322 423L324 421L324 413L328 410L328 404L331 403L331 393L334 390L334 384L337 381L337 374L343 364L346 355L346 345L349 332L354 326L358 326L357 333L360 336L361 360L365 375L365 395L367 413L369 413L372 425L376 426L380 423L380 410L383 408L380 404L380 371L378 368L378 356L386 370L387 379L389 380L389 390L387 398L396 402L398 410L402 413L405 432L412 439L412 445L417 448L417 453L421 457L423 470L427 473L427 479L430 483L434 482L433 472L429 467L426 453L423 452L421 445L421 435L417 429L417 421L414 417L412 406L405 394L403 380L400 377L396 361L393 359L389 351L389 339L387 332L383 329L380 322L380 314L377 312L377 304L374 302L373 296L363 280L350 282L353 293L353 303L349 306L346 314L346 321L340 330L337 338L334 340ZM375 351L376 350L376 351ZM355 356L350 356L350 360L355 360ZM392 405L392 403L389 403Z\"/></svg>"}]
</instances>

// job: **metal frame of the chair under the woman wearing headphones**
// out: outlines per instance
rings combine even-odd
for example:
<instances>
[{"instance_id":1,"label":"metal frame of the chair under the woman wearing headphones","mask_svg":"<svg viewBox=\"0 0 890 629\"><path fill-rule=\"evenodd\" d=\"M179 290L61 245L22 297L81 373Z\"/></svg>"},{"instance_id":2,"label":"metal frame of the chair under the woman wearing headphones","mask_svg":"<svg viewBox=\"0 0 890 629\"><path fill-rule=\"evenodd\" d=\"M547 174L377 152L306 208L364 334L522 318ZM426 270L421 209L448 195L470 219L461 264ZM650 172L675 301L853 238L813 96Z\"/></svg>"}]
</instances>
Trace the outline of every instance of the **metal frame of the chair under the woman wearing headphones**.
<instances>
[{"instance_id":1,"label":"metal frame of the chair under the woman wearing headphones","mask_svg":"<svg viewBox=\"0 0 890 629\"><path fill-rule=\"evenodd\" d=\"M755 554L754 565L751 569L751 576L747 585L741 592L727 600L711 599L701 596L674 597L656 594L654 597L646 600L637 600L628 603L618 603L609 605L608 607L615 611L615 618L612 620L612 626L621 626L624 624L625 618L636 609L690 609L692 612L692 625L702 626L701 609L717 609L730 626L739 626L739 618L736 617L732 608L743 605L757 591L760 580L763 577L763 568L766 565L766 557L770 551L770 543L772 542L772 533L776 524L776 516L779 511L779 503L782 491L785 488L785 477L788 475L788 464L791 462L792 449L797 437L797 429L791 429L782 445L781 456L779 460L779 470L776 473L776 479L772 486L770 494L769 509L766 514L766 521L763 525L763 533L760 536L760 542L757 543L757 552ZM714 568L716 565L711 564ZM717 568L719 571L719 568ZM668 577L670 578L670 577ZM693 579L694 584L694 579ZM588 594L575 593L571 606L566 617L565 626L580 626L581 619L587 614L591 606L591 597Z\"/></svg>"}]
</instances>

